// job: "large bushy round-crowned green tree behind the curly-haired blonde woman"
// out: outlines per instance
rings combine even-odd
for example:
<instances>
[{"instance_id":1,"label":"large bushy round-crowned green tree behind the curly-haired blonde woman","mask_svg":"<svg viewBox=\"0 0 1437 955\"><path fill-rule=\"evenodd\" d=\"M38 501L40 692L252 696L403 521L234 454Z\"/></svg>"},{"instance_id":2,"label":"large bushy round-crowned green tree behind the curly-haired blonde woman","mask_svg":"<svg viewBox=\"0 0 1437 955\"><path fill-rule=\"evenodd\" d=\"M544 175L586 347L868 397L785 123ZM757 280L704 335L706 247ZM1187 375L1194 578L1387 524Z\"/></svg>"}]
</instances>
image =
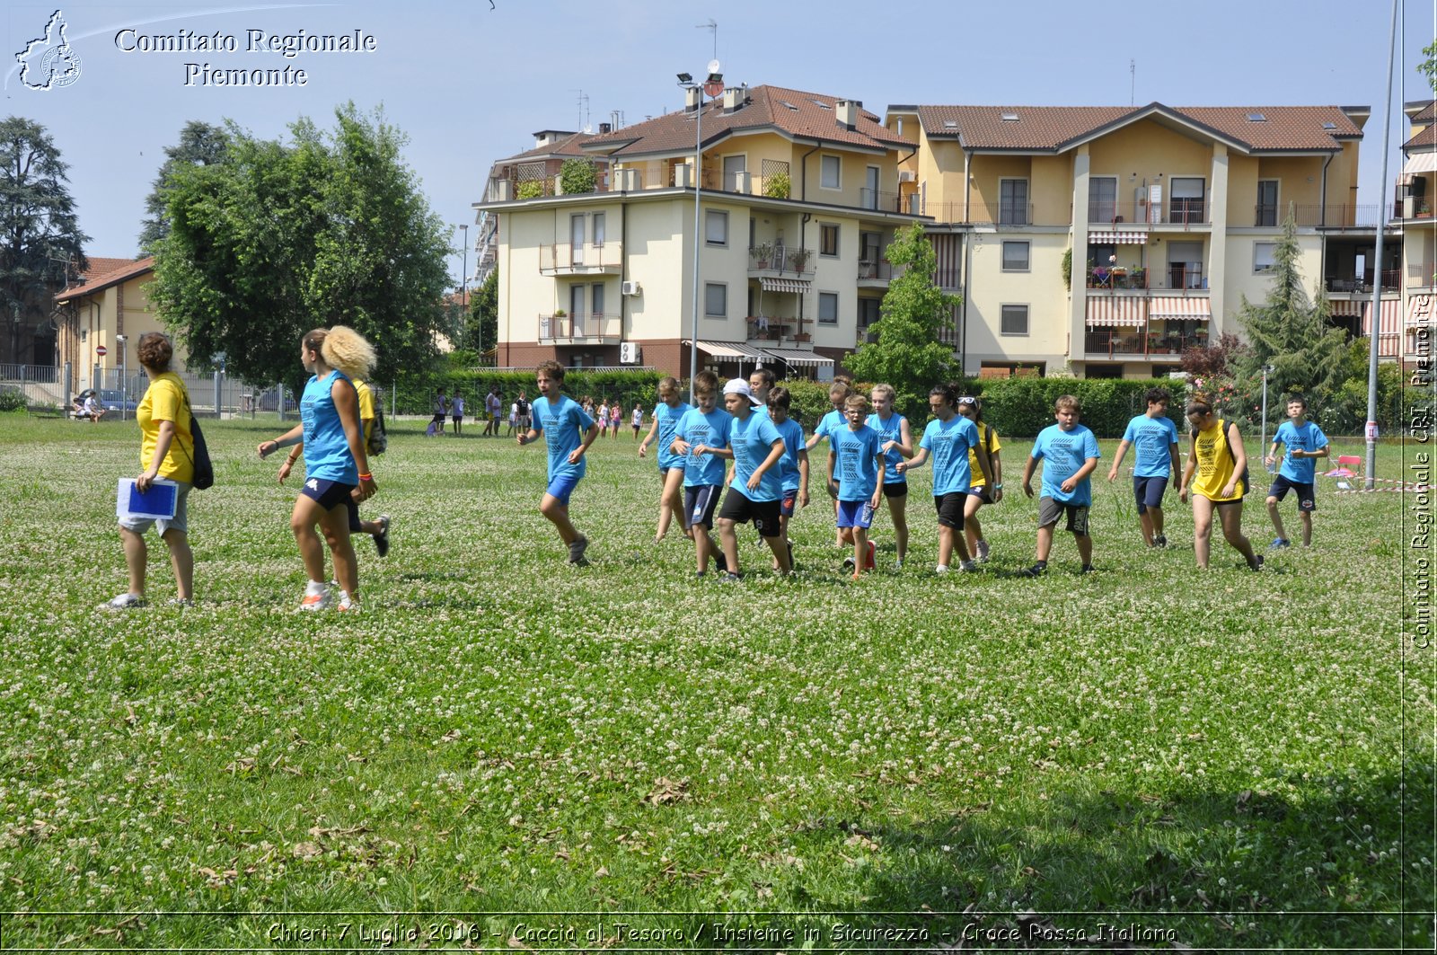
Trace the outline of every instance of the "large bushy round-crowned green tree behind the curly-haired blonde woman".
<instances>
[{"instance_id":1,"label":"large bushy round-crowned green tree behind the curly-haired blonde woman","mask_svg":"<svg viewBox=\"0 0 1437 955\"><path fill-rule=\"evenodd\" d=\"M223 352L241 378L297 385L300 335L335 324L374 342L381 380L434 358L448 230L398 129L352 104L335 118L299 119L290 142L231 125L227 161L177 170L152 298L191 364Z\"/></svg>"}]
</instances>

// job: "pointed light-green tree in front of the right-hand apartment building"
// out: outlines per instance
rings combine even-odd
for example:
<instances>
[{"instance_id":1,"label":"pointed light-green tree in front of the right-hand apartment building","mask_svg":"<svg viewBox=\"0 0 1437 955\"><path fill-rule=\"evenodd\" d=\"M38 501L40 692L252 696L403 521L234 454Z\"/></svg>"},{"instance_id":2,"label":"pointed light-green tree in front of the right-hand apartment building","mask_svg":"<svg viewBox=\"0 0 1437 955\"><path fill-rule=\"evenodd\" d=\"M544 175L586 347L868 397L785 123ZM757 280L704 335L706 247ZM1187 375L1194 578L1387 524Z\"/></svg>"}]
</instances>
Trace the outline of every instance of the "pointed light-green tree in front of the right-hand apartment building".
<instances>
[{"instance_id":1,"label":"pointed light-green tree in front of the right-hand apartment building","mask_svg":"<svg viewBox=\"0 0 1437 955\"><path fill-rule=\"evenodd\" d=\"M1237 377L1257 381L1263 365L1272 365L1269 394L1302 393L1321 400L1346 375L1346 332L1332 325L1325 293L1319 291L1316 302L1308 298L1298 255L1298 226L1289 210L1273 252L1267 299L1253 305L1244 295L1237 312L1249 344L1239 355Z\"/></svg>"}]
</instances>

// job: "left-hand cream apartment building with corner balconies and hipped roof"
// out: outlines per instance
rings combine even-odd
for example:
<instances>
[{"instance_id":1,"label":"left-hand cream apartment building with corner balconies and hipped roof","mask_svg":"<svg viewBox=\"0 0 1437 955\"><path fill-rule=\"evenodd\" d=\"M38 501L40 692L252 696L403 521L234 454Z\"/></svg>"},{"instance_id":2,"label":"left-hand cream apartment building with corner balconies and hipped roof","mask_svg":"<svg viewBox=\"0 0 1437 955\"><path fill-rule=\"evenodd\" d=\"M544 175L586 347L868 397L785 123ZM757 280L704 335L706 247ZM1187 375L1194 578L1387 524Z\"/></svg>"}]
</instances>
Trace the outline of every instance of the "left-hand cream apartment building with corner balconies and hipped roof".
<instances>
[{"instance_id":1,"label":"left-hand cream apartment building with corner balconies and hipped roof","mask_svg":"<svg viewBox=\"0 0 1437 955\"><path fill-rule=\"evenodd\" d=\"M500 365L687 374L697 309L700 367L826 377L877 321L882 250L918 219L900 197L912 144L856 99L694 88L683 111L576 148L605 167L596 191L520 197L491 177L474 204L502 220Z\"/></svg>"}]
</instances>

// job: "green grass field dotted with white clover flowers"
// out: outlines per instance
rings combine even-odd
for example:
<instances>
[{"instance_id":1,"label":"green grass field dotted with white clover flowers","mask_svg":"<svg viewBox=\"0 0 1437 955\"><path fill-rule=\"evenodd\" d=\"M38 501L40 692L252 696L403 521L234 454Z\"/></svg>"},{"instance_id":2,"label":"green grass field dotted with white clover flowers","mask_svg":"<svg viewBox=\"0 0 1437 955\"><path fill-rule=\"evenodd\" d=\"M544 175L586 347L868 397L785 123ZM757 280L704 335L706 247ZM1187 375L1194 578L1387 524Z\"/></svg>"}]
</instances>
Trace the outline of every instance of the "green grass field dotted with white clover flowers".
<instances>
[{"instance_id":1,"label":"green grass field dotted with white clover flowers","mask_svg":"<svg viewBox=\"0 0 1437 955\"><path fill-rule=\"evenodd\" d=\"M1033 581L1013 440L981 574L933 575L924 469L901 572L884 516L851 584L823 499L796 580L750 531L760 572L723 587L651 544L627 436L575 493L573 568L542 447L421 426L375 460L394 551L358 541L364 616L293 613L273 421L207 426L200 606L158 606L151 538L154 606L112 614L138 433L6 417L0 948L1433 945L1415 495L1326 480L1312 552L1252 574L1219 542L1198 572L1175 496L1151 552L1099 479L1098 572L1059 535ZM1260 496L1244 528L1272 538Z\"/></svg>"}]
</instances>

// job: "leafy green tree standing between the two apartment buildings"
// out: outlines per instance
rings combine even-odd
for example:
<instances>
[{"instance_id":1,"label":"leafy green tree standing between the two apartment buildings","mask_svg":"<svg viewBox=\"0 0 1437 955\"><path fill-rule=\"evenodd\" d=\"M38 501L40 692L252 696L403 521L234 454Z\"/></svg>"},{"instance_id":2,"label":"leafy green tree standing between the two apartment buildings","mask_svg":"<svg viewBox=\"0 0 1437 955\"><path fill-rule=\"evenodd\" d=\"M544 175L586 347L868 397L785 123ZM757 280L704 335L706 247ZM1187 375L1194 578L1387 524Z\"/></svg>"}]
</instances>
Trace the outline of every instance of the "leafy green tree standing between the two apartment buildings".
<instances>
[{"instance_id":1,"label":"leafy green tree standing between the two apartment buildings","mask_svg":"<svg viewBox=\"0 0 1437 955\"><path fill-rule=\"evenodd\" d=\"M944 293L934 282L938 257L923 223L901 229L885 255L907 270L888 283L879 319L871 328L877 339L859 345L844 364L862 381L887 381L897 391L897 406L910 407L954 371L953 348L938 335L963 298Z\"/></svg>"}]
</instances>

